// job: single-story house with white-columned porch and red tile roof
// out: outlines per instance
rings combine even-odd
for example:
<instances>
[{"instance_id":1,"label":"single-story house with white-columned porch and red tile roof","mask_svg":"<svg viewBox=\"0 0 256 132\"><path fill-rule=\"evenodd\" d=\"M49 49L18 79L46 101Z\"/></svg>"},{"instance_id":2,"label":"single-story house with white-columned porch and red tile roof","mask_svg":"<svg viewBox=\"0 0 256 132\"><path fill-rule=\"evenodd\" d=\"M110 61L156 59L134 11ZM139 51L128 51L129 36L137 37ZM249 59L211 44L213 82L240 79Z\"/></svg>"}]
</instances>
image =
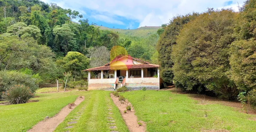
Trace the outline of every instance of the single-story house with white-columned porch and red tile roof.
<instances>
[{"instance_id":1,"label":"single-story house with white-columned porch and red tile roof","mask_svg":"<svg viewBox=\"0 0 256 132\"><path fill-rule=\"evenodd\" d=\"M122 56L104 66L83 71L88 71L89 90L116 90L122 86L130 90L140 90L143 87L159 90L162 85L159 65L131 56Z\"/></svg>"}]
</instances>

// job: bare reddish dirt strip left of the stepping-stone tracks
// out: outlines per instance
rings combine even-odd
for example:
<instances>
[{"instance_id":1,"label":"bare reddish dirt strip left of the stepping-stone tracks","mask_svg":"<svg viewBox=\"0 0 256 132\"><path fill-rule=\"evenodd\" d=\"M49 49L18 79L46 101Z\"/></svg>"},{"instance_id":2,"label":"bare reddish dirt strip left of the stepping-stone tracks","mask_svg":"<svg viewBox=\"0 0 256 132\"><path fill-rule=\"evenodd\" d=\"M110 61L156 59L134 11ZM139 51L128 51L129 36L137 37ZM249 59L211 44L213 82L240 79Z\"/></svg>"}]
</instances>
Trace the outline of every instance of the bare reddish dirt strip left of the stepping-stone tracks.
<instances>
[{"instance_id":1,"label":"bare reddish dirt strip left of the stepping-stone tracks","mask_svg":"<svg viewBox=\"0 0 256 132\"><path fill-rule=\"evenodd\" d=\"M55 116L44 119L43 121L38 122L33 128L28 130L27 132L52 132L55 128L64 121L65 117L82 101L84 100L84 96L78 97L76 99L75 106L69 109L68 105L61 109L61 111Z\"/></svg>"}]
</instances>

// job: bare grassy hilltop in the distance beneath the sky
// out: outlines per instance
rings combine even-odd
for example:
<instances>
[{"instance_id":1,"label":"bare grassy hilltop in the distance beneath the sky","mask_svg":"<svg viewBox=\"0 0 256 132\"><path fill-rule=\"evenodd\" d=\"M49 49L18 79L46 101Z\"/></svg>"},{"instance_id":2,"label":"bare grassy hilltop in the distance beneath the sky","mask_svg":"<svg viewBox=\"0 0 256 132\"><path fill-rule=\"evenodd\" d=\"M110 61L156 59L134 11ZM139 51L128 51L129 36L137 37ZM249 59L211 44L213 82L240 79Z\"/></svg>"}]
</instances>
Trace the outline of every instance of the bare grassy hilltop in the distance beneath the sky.
<instances>
[{"instance_id":1,"label":"bare grassy hilltop in the distance beneath the sky","mask_svg":"<svg viewBox=\"0 0 256 132\"><path fill-rule=\"evenodd\" d=\"M120 35L125 35L128 37L138 37L138 38L147 38L150 35L156 34L161 26L145 26L136 29L119 29L119 28L107 28L104 26L99 26L101 30L111 30L117 31Z\"/></svg>"}]
</instances>

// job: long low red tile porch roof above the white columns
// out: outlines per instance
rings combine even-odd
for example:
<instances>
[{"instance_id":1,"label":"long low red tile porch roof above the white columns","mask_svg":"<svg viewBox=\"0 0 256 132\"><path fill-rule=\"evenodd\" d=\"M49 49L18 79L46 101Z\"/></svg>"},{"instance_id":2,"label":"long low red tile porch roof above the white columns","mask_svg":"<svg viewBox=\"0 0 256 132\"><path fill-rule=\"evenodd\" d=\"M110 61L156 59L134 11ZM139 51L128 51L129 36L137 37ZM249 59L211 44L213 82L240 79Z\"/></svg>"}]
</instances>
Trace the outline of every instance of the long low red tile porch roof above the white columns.
<instances>
[{"instance_id":1,"label":"long low red tile porch roof above the white columns","mask_svg":"<svg viewBox=\"0 0 256 132\"><path fill-rule=\"evenodd\" d=\"M137 64L137 65L121 65L121 66L100 66L95 68L89 68L83 71L125 70L125 69L137 69L137 68L157 68L157 67L159 67L159 65Z\"/></svg>"}]
</instances>

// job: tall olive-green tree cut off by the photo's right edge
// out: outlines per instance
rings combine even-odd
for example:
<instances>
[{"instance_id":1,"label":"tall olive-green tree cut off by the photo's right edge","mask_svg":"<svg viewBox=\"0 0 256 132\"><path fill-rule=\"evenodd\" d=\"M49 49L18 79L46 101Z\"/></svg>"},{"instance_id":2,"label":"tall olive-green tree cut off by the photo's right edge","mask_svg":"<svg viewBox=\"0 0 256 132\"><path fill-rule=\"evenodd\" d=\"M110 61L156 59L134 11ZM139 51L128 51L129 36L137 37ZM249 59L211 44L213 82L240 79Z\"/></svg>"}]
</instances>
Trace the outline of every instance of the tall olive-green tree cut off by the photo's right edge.
<instances>
[{"instance_id":1,"label":"tall olive-green tree cut off by the photo's right edge","mask_svg":"<svg viewBox=\"0 0 256 132\"><path fill-rule=\"evenodd\" d=\"M231 79L245 92L256 87L255 4L255 0L247 0L240 8L233 34L236 41L230 47Z\"/></svg>"}]
</instances>

